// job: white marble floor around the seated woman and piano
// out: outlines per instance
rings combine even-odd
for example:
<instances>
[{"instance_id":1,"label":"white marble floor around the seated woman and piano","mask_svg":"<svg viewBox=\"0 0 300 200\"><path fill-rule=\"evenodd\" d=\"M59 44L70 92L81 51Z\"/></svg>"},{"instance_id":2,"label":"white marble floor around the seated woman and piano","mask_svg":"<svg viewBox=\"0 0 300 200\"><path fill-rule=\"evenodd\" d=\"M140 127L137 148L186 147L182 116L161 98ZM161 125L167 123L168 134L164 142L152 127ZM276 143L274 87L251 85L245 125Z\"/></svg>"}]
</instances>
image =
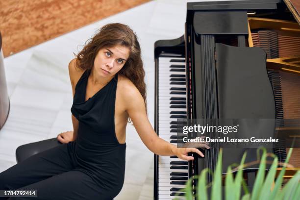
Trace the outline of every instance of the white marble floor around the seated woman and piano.
<instances>
[{"instance_id":1,"label":"white marble floor around the seated woman and piano","mask_svg":"<svg viewBox=\"0 0 300 200\"><path fill-rule=\"evenodd\" d=\"M200 0L188 0L200 1ZM4 59L10 113L0 130L0 172L16 164L18 146L71 130L72 89L68 63L84 42L107 23L129 25L139 37L154 122L154 42L184 33L185 0L154 0ZM127 125L125 184L116 200L153 199L153 153Z\"/></svg>"}]
</instances>

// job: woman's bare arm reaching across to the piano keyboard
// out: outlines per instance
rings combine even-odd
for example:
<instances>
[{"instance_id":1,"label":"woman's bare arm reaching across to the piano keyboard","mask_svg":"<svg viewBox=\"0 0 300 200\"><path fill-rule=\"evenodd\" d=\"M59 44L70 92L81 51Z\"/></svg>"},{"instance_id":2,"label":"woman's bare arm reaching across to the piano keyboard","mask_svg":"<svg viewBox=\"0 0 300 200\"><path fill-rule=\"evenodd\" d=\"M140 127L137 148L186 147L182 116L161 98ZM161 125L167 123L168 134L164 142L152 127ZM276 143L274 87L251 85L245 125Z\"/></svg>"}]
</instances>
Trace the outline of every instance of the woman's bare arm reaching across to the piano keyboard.
<instances>
[{"instance_id":1,"label":"woman's bare arm reaching across to the piano keyboard","mask_svg":"<svg viewBox=\"0 0 300 200\"><path fill-rule=\"evenodd\" d=\"M128 88L127 88L128 89ZM175 145L159 138L153 130L146 114L145 103L142 95L135 87L126 90L125 95L126 111L138 132L143 143L153 153L163 156L176 155L183 160L193 160L193 156L188 156L188 152L196 152L204 157L203 153L196 148L177 148ZM203 147L209 149L206 144Z\"/></svg>"}]
</instances>

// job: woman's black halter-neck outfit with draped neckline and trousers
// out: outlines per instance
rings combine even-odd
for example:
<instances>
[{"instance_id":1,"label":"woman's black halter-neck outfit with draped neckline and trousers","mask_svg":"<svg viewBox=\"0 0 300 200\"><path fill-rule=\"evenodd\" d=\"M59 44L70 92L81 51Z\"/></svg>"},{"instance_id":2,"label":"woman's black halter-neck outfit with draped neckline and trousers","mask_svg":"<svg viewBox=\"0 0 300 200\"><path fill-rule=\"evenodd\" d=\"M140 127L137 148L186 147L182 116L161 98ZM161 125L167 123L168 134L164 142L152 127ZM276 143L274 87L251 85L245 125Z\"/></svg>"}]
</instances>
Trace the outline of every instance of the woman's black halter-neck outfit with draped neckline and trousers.
<instances>
[{"instance_id":1,"label":"woman's black halter-neck outfit with draped neckline and trousers","mask_svg":"<svg viewBox=\"0 0 300 200\"><path fill-rule=\"evenodd\" d=\"M118 76L85 101L89 75L85 71L75 87L71 111L79 121L76 140L1 172L0 189L34 189L37 200L111 200L118 195L124 183L126 149L115 133Z\"/></svg>"}]
</instances>

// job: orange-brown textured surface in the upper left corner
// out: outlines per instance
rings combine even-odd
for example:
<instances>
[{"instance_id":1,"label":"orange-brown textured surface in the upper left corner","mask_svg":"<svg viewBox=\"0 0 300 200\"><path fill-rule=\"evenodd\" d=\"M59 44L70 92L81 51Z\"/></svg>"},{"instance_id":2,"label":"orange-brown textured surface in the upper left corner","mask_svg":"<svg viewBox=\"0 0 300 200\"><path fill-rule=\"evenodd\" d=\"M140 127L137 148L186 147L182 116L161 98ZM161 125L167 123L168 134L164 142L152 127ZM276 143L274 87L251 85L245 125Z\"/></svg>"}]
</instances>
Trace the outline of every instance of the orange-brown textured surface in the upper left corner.
<instances>
[{"instance_id":1,"label":"orange-brown textured surface in the upper left corner","mask_svg":"<svg viewBox=\"0 0 300 200\"><path fill-rule=\"evenodd\" d=\"M4 57L150 0L1 0Z\"/></svg>"}]
</instances>

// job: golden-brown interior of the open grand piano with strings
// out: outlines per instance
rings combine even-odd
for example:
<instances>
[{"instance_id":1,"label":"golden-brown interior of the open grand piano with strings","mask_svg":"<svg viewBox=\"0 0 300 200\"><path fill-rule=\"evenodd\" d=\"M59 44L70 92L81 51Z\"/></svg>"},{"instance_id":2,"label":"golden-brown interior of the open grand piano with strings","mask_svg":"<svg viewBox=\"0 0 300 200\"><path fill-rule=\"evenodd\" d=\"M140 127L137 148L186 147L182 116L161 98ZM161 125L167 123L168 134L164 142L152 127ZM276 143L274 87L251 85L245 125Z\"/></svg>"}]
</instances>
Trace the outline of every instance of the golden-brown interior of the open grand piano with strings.
<instances>
[{"instance_id":1,"label":"golden-brown interior of the open grand piano with strings","mask_svg":"<svg viewBox=\"0 0 300 200\"><path fill-rule=\"evenodd\" d=\"M296 21L254 17L249 17L248 21L248 46L264 49L268 71L277 74L276 86L281 93L277 97L279 99L276 99L276 89L273 90L275 102L282 101L283 119L300 119L300 25ZM269 37L264 39L264 35ZM259 36L263 42L259 42ZM276 109L280 109L279 103L275 104ZM299 126L295 124L295 129L300 130ZM289 163L295 168L300 167L300 148L294 148Z\"/></svg>"}]
</instances>

